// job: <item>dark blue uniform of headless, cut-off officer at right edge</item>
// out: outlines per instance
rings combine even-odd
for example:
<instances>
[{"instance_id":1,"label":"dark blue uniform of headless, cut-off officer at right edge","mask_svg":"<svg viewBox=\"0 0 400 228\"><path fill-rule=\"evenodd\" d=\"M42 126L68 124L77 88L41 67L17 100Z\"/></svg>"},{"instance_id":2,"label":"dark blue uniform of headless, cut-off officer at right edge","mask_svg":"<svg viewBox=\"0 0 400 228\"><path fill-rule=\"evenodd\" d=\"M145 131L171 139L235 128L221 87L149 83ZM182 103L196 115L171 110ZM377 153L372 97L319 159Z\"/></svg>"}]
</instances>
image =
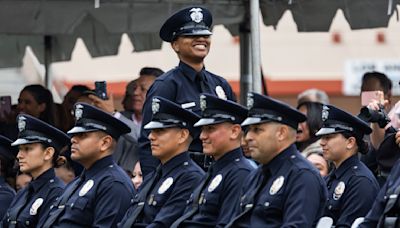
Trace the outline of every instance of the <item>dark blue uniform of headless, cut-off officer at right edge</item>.
<instances>
[{"instance_id":1,"label":"dark blue uniform of headless, cut-off officer at right edge","mask_svg":"<svg viewBox=\"0 0 400 228\"><path fill-rule=\"evenodd\" d=\"M375 202L365 216L364 222L359 226L360 228L366 227L395 227L394 224L398 221L400 215L400 161L397 161L393 167L386 183L379 191ZM386 223L386 224L385 224Z\"/></svg>"}]
</instances>

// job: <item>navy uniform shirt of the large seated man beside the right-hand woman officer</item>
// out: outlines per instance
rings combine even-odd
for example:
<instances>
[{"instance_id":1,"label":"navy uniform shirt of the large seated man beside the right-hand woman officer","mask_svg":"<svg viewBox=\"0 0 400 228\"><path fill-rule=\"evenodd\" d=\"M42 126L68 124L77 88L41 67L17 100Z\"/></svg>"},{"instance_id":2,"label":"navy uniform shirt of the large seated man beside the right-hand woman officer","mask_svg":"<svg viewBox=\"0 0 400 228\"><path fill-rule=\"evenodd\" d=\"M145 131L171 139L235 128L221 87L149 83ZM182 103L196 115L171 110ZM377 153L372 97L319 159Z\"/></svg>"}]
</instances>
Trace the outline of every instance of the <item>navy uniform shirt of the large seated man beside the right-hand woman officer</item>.
<instances>
[{"instance_id":1,"label":"navy uniform shirt of the large seated man beside the right-hand woman officer","mask_svg":"<svg viewBox=\"0 0 400 228\"><path fill-rule=\"evenodd\" d=\"M270 177L254 200L263 172ZM291 145L254 170L243 184L239 211L250 209L232 227L314 227L322 216L327 191L318 171Z\"/></svg>"}]
</instances>

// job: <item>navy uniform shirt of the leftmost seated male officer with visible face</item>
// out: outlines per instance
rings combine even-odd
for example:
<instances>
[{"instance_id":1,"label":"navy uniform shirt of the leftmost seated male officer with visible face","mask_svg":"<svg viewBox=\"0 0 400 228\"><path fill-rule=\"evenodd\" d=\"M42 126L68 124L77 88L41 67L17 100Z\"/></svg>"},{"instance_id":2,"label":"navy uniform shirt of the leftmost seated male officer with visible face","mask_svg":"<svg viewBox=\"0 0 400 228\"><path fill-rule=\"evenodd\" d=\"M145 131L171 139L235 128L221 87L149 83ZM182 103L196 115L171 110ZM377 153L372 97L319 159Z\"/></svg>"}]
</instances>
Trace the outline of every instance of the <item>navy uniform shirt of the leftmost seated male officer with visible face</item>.
<instances>
[{"instance_id":1,"label":"navy uniform shirt of the leftmost seated male officer with visible face","mask_svg":"<svg viewBox=\"0 0 400 228\"><path fill-rule=\"evenodd\" d=\"M66 187L65 192L68 192L76 181L81 181L52 227L116 227L133 198L132 181L111 155L83 172L81 178ZM59 198L62 200L63 196Z\"/></svg>"}]
</instances>

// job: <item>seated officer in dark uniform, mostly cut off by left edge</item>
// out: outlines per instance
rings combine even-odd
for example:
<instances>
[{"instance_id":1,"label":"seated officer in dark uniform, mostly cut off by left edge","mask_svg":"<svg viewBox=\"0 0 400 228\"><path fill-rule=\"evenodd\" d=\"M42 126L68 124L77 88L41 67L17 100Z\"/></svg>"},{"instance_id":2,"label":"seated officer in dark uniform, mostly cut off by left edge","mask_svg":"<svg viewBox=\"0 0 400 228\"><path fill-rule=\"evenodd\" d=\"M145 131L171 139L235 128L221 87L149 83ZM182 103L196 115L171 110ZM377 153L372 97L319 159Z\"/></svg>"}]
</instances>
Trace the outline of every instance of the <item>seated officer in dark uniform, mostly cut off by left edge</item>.
<instances>
[{"instance_id":1,"label":"seated officer in dark uniform, mostly cut off by left edge","mask_svg":"<svg viewBox=\"0 0 400 228\"><path fill-rule=\"evenodd\" d=\"M10 139L0 135L0 219L3 219L15 197L14 189L7 183L9 178L15 177L13 166L18 152L11 143Z\"/></svg>"}]
</instances>

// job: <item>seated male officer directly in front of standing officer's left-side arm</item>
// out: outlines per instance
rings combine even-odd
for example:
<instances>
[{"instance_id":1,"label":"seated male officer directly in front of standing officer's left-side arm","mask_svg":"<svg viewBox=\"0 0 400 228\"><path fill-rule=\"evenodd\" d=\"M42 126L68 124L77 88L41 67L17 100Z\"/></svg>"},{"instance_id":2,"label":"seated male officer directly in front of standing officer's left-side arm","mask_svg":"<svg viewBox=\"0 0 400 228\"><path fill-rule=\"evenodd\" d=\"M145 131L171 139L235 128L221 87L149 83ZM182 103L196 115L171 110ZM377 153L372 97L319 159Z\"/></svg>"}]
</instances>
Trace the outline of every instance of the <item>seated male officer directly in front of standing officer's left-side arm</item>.
<instances>
[{"instance_id":1,"label":"seated male officer directly in front of standing officer's left-side arm","mask_svg":"<svg viewBox=\"0 0 400 228\"><path fill-rule=\"evenodd\" d=\"M187 152L198 116L162 97L152 99L149 139L157 170L139 188L120 227L169 227L179 218L190 193L204 175Z\"/></svg>"}]
</instances>

